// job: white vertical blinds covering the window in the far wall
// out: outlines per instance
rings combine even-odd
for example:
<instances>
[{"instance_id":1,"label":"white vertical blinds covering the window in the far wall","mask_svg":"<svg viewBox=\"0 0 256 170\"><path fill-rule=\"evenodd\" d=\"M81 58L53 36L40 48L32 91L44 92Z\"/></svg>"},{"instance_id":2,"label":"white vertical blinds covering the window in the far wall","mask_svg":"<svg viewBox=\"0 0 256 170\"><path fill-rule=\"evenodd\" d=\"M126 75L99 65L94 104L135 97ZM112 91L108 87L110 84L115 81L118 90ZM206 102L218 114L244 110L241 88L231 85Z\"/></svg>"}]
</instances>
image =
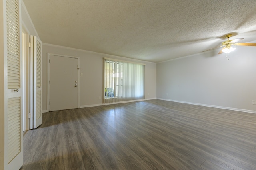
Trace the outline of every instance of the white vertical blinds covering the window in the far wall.
<instances>
[{"instance_id":1,"label":"white vertical blinds covering the window in the far wall","mask_svg":"<svg viewBox=\"0 0 256 170\"><path fill-rule=\"evenodd\" d=\"M105 58L105 103L144 99L144 65Z\"/></svg>"}]
</instances>

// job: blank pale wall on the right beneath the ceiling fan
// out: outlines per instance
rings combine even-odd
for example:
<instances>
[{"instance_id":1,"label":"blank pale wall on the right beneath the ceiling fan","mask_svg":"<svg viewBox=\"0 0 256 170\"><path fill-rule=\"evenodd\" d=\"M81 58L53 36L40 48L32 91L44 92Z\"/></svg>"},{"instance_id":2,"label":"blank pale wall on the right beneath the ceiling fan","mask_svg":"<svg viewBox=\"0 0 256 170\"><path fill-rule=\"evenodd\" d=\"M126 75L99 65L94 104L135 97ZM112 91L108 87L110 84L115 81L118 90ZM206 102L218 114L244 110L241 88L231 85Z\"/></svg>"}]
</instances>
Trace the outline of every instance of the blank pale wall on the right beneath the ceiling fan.
<instances>
[{"instance_id":1,"label":"blank pale wall on the right beneath the ceiling fan","mask_svg":"<svg viewBox=\"0 0 256 170\"><path fill-rule=\"evenodd\" d=\"M156 65L156 97L256 113L256 47L236 47Z\"/></svg>"}]
</instances>

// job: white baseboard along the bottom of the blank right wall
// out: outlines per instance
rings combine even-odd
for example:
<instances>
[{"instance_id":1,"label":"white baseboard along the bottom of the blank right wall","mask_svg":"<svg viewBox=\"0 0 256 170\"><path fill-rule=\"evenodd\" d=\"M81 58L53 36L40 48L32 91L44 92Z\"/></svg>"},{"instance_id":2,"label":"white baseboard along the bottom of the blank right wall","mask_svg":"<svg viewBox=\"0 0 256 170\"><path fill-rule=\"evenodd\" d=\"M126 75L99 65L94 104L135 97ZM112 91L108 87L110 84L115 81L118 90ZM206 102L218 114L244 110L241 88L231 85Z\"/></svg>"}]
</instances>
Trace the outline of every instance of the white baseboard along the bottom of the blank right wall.
<instances>
[{"instance_id":1,"label":"white baseboard along the bottom of the blank right wall","mask_svg":"<svg viewBox=\"0 0 256 170\"><path fill-rule=\"evenodd\" d=\"M191 104L191 105L199 105L199 106L206 106L206 107L214 107L214 108L219 108L219 109L228 109L228 110L232 110L232 111L240 111L240 112L247 112L247 113L256 113L256 111L251 111L251 110L246 110L246 109L238 109L238 108L233 108L233 107L223 107L223 106L215 106L215 105L206 105L206 104L201 104L201 103L192 103L192 102L177 101L177 100L162 99L162 98L156 98L156 99L165 100L165 101L173 101L173 102L178 102L178 103L186 103L186 104Z\"/></svg>"}]
</instances>

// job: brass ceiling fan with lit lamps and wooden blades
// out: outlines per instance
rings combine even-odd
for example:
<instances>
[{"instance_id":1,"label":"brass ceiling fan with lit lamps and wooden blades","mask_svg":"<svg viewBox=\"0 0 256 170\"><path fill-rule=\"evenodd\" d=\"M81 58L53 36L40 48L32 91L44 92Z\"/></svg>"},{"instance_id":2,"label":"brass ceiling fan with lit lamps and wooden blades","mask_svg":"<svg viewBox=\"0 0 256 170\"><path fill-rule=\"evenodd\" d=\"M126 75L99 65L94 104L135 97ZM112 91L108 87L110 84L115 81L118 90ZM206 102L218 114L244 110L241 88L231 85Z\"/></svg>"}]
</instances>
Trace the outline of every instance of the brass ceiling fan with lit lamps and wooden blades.
<instances>
[{"instance_id":1,"label":"brass ceiling fan with lit lamps and wooden blades","mask_svg":"<svg viewBox=\"0 0 256 170\"><path fill-rule=\"evenodd\" d=\"M218 54L221 54L221 53L230 53L232 51L234 51L234 49L236 48L233 48L231 47L231 45L242 45L242 46L256 46L256 43L236 43L244 38L236 38L234 40L229 40L229 38L232 36L232 34L228 34L226 35L225 37L228 38L228 40L222 42L222 45L219 46L219 47L223 47L220 52ZM216 48L219 48L219 47L216 47ZM212 49L216 49L216 48L212 48ZM210 51L212 49L208 49L206 51ZM204 52L204 51L203 51Z\"/></svg>"}]
</instances>

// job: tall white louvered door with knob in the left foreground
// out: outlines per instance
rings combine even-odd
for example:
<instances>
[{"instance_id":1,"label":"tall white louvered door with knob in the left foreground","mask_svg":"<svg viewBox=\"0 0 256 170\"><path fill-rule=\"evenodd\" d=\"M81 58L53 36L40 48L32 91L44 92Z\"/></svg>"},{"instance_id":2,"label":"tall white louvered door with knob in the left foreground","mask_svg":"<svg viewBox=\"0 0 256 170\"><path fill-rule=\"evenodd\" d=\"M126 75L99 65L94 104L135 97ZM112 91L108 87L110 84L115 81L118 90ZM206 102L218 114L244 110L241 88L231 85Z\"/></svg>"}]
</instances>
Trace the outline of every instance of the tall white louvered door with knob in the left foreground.
<instances>
[{"instance_id":1,"label":"tall white louvered door with knob in the left foreground","mask_svg":"<svg viewBox=\"0 0 256 170\"><path fill-rule=\"evenodd\" d=\"M23 132L22 132L22 57L20 1L3 1L6 17L4 30L4 65L7 77L4 79L4 170L18 170L23 164ZM7 66L7 69L6 69ZM2 131L1 131L2 132Z\"/></svg>"}]
</instances>

